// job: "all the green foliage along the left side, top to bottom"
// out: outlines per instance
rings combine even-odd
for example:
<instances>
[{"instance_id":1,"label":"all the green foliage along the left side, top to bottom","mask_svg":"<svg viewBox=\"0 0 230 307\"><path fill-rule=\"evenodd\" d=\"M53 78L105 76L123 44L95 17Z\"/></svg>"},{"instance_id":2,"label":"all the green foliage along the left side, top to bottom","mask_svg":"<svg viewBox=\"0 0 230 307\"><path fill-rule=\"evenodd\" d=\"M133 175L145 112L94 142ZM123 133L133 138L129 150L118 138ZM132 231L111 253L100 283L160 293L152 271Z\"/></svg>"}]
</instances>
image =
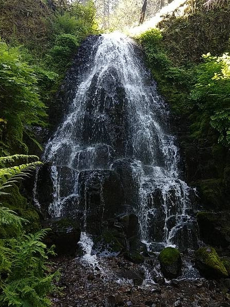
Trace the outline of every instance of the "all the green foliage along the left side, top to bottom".
<instances>
[{"instance_id":1,"label":"all the green foliage along the left side, top to bottom","mask_svg":"<svg viewBox=\"0 0 230 307\"><path fill-rule=\"evenodd\" d=\"M53 5L50 6L49 3ZM0 2L0 306L50 306L59 274L49 271L39 215L21 183L41 162L28 155L33 128L49 127L55 93L81 41L97 33L93 1Z\"/></svg>"}]
</instances>

